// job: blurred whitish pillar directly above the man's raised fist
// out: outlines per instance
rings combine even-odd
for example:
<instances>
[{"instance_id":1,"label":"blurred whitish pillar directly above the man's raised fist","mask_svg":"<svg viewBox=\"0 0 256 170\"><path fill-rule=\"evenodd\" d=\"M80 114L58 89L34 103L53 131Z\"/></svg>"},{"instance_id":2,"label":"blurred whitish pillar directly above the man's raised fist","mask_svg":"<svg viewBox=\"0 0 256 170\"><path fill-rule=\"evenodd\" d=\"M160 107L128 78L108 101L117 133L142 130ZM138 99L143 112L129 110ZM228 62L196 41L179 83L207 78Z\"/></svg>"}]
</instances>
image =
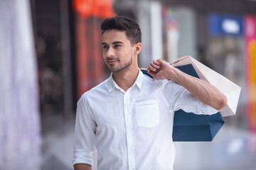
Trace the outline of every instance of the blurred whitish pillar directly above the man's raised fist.
<instances>
[{"instance_id":1,"label":"blurred whitish pillar directly above the man's raised fist","mask_svg":"<svg viewBox=\"0 0 256 170\"><path fill-rule=\"evenodd\" d=\"M138 1L138 23L142 30L142 52L139 55L139 67L148 67L152 60L163 55L163 31L161 2Z\"/></svg>"}]
</instances>

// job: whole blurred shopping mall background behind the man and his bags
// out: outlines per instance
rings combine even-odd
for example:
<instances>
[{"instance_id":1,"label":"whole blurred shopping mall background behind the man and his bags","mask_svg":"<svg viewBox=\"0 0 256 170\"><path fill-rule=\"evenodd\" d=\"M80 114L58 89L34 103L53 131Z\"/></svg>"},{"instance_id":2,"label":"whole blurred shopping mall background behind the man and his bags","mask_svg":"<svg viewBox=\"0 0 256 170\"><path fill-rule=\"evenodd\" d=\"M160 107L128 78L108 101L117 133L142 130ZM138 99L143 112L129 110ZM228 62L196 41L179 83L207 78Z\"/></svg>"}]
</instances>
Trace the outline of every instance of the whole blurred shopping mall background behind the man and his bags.
<instances>
[{"instance_id":1,"label":"whole blurred shopping mall background behind the man and his bags","mask_svg":"<svg viewBox=\"0 0 256 170\"><path fill-rule=\"evenodd\" d=\"M108 16L141 26L139 67L191 55L242 87L213 142L175 142L174 169L256 169L254 0L1 0L0 169L73 169L76 103L110 75Z\"/></svg>"}]
</instances>

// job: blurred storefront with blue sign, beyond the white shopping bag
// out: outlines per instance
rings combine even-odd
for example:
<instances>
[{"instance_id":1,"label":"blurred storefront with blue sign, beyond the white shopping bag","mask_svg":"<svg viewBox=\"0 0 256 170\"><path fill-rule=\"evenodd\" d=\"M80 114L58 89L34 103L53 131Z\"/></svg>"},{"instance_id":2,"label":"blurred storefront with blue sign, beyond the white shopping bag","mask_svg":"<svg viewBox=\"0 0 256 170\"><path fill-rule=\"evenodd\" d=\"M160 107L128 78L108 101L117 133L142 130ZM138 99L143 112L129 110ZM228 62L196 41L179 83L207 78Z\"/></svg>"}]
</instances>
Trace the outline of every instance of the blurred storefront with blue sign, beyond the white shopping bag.
<instances>
[{"instance_id":1,"label":"blurred storefront with blue sign, beyond the white shopping bag","mask_svg":"<svg viewBox=\"0 0 256 170\"><path fill-rule=\"evenodd\" d=\"M247 128L245 37L242 15L209 13L206 62L226 78L242 87L236 116L226 124Z\"/></svg>"}]
</instances>

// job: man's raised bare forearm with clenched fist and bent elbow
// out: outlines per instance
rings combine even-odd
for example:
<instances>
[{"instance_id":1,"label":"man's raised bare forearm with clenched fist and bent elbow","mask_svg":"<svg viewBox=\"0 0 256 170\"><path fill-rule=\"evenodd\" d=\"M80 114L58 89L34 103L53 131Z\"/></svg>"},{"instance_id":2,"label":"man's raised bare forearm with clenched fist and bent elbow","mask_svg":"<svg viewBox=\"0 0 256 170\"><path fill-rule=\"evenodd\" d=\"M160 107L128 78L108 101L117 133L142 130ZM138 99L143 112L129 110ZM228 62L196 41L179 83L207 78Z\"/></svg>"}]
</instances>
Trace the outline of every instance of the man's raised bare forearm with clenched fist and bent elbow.
<instances>
[{"instance_id":1,"label":"man's raised bare forearm with clenched fist and bent elbow","mask_svg":"<svg viewBox=\"0 0 256 170\"><path fill-rule=\"evenodd\" d=\"M170 79L175 81L190 91L199 101L218 111L223 109L228 103L227 97L215 86L181 72L179 69L172 67L168 62L161 60L157 62L154 60L149 64L148 72L154 79Z\"/></svg>"}]
</instances>

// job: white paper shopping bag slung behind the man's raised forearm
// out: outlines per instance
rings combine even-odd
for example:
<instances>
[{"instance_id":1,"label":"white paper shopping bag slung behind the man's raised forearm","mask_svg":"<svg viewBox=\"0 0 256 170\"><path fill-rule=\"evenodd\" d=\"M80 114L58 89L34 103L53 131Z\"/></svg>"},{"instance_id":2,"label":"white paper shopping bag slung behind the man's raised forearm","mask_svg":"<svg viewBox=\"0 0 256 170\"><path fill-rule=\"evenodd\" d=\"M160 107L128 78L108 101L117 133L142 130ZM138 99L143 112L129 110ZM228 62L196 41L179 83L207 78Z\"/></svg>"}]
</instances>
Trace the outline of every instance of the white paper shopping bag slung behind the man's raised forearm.
<instances>
[{"instance_id":1,"label":"white paper shopping bag slung behind the man's raised forearm","mask_svg":"<svg viewBox=\"0 0 256 170\"><path fill-rule=\"evenodd\" d=\"M229 79L223 77L218 72L213 71L209 67L206 67L201 62L198 62L191 56L181 57L175 62L171 63L173 67L180 67L183 65L192 64L196 70L198 77L207 81L209 84L217 87L228 98L228 105L220 111L220 114L225 117L229 115L235 115L235 111L238 106L238 99L240 96L241 87L234 84Z\"/></svg>"}]
</instances>

